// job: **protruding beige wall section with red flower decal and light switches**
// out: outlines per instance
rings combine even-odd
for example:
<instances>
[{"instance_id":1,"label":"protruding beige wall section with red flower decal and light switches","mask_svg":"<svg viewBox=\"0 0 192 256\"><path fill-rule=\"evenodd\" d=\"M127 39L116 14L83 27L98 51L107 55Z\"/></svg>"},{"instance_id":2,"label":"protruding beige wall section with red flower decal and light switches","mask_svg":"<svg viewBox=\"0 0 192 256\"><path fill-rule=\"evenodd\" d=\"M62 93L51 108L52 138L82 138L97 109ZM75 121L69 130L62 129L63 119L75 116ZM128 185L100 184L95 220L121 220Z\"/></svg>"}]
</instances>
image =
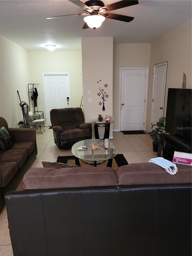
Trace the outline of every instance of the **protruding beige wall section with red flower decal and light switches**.
<instances>
[{"instance_id":1,"label":"protruding beige wall section with red flower decal and light switches","mask_svg":"<svg viewBox=\"0 0 192 256\"><path fill-rule=\"evenodd\" d=\"M83 100L85 122L98 120L98 115L103 118L113 115L113 37L82 38L82 74L83 74ZM101 80L101 81L100 81ZM99 83L97 83L99 82ZM108 86L105 87L104 85ZM99 87L105 89L108 98L104 102L105 111L102 110L101 96L98 96ZM87 91L91 90L91 95ZM88 103L92 98L92 103ZM102 137L103 131L99 129ZM93 132L93 137L94 137ZM113 137L113 125L110 127L110 138Z\"/></svg>"}]
</instances>

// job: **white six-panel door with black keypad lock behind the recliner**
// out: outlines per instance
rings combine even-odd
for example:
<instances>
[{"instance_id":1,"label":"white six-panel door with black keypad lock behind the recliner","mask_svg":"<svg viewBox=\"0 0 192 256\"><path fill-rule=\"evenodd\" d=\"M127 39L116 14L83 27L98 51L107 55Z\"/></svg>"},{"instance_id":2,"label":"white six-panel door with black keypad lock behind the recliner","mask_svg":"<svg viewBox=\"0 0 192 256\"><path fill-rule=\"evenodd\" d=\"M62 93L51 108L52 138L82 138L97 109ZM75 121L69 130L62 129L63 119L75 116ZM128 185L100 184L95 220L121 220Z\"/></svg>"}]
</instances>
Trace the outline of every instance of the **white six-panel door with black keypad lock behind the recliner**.
<instances>
[{"instance_id":1,"label":"white six-panel door with black keypad lock behind the recliner","mask_svg":"<svg viewBox=\"0 0 192 256\"><path fill-rule=\"evenodd\" d=\"M71 107L69 73L43 74L46 125L51 126L50 110Z\"/></svg>"}]
</instances>

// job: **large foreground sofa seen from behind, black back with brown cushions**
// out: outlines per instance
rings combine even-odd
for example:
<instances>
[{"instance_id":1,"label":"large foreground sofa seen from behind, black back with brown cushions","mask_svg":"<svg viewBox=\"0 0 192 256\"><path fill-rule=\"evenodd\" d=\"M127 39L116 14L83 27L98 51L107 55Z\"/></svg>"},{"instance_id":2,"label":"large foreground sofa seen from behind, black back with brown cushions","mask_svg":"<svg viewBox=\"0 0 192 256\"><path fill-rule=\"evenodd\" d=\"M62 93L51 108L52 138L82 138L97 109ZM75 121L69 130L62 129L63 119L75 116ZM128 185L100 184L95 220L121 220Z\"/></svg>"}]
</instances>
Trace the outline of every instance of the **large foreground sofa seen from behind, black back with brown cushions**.
<instances>
[{"instance_id":1,"label":"large foreground sofa seen from behind, black back with brown cushions","mask_svg":"<svg viewBox=\"0 0 192 256\"><path fill-rule=\"evenodd\" d=\"M190 166L44 166L5 196L14 255L191 256Z\"/></svg>"}]
</instances>

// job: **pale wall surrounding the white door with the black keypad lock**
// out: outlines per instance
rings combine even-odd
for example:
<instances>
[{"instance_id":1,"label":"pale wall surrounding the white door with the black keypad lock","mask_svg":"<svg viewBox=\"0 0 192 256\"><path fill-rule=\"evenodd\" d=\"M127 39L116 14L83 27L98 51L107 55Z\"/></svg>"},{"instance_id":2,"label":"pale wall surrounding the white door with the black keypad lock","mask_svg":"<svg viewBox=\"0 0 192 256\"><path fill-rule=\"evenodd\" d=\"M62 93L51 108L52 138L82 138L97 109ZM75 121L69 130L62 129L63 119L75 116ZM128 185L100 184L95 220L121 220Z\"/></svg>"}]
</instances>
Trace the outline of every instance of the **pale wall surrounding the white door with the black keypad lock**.
<instances>
[{"instance_id":1,"label":"pale wall surrounding the white door with the black keypad lock","mask_svg":"<svg viewBox=\"0 0 192 256\"><path fill-rule=\"evenodd\" d=\"M71 107L80 107L82 98L81 51L29 51L29 83L39 83L38 111L45 116L43 73L69 73ZM46 118L46 116L45 116Z\"/></svg>"}]
</instances>

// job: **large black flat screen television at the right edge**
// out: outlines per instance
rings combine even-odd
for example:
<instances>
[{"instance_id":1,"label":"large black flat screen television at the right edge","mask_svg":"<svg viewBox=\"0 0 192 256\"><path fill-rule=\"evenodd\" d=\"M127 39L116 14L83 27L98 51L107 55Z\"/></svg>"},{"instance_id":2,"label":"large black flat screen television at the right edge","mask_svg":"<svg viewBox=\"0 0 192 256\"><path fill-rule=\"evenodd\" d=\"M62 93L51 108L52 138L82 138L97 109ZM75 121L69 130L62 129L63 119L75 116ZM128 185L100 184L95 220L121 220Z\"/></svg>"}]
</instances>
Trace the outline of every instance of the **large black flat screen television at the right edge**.
<instances>
[{"instance_id":1,"label":"large black flat screen television at the right edge","mask_svg":"<svg viewBox=\"0 0 192 256\"><path fill-rule=\"evenodd\" d=\"M165 131L191 144L192 89L169 88Z\"/></svg>"}]
</instances>

